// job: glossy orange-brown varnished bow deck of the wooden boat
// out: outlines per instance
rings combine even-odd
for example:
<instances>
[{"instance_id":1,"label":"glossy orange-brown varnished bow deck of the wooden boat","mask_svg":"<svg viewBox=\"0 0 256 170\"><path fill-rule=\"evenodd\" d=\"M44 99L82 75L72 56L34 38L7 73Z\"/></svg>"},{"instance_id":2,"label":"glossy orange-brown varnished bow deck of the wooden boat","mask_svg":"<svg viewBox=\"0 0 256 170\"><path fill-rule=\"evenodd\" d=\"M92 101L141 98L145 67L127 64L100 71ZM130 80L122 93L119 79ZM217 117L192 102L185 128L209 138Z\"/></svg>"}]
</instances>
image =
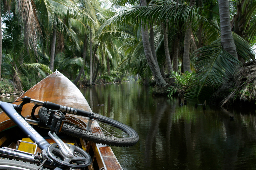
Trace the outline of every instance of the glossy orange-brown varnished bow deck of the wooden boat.
<instances>
[{"instance_id":1,"label":"glossy orange-brown varnished bow deck of the wooden boat","mask_svg":"<svg viewBox=\"0 0 256 170\"><path fill-rule=\"evenodd\" d=\"M64 106L72 106L73 108L91 111L83 94L60 72L57 72L57 75L56 72L52 73L25 92L16 101L21 100L24 96L40 101L50 101ZM21 102L16 102L15 104L18 105L20 103ZM33 106L34 104L32 103L24 105L21 114L24 117L30 116ZM35 115L38 114L38 109ZM0 113L0 121L0 131L14 126L9 117L3 112Z\"/></svg>"}]
</instances>

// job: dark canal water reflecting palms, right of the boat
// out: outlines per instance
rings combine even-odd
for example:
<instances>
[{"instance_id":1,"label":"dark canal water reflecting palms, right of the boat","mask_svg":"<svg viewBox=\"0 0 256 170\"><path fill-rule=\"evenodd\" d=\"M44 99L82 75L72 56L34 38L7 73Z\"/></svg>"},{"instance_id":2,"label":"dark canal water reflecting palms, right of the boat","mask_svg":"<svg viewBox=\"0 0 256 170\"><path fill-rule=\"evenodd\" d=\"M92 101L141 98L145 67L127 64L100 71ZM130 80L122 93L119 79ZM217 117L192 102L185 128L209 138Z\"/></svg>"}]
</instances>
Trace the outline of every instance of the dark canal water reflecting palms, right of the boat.
<instances>
[{"instance_id":1,"label":"dark canal water reflecting palms, right of the boat","mask_svg":"<svg viewBox=\"0 0 256 170\"><path fill-rule=\"evenodd\" d=\"M153 97L136 81L80 90L93 112L138 132L136 145L111 147L124 170L256 169L254 110L203 110L202 101Z\"/></svg>"}]
</instances>

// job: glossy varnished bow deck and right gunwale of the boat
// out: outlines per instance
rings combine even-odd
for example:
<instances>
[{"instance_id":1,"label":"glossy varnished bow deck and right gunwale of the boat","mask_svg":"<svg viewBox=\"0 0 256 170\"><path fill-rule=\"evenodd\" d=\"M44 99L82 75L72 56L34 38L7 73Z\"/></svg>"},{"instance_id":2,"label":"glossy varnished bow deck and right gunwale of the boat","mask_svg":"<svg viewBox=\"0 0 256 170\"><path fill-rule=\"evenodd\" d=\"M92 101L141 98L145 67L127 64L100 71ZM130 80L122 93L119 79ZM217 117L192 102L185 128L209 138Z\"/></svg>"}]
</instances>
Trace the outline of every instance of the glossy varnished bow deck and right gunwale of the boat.
<instances>
[{"instance_id":1,"label":"glossy varnished bow deck and right gunwale of the boat","mask_svg":"<svg viewBox=\"0 0 256 170\"><path fill-rule=\"evenodd\" d=\"M57 72L57 75L56 72L52 73L25 92L16 101L21 100L24 96L92 112L80 90L60 72ZM21 102L16 102L15 104L20 103ZM24 105L21 114L24 117L31 116L31 110L33 107L34 104ZM35 115L38 114L38 110L39 108L36 109ZM14 126L14 123L4 112L0 113L0 122L0 131ZM104 167L105 170L122 169L109 146L104 145L104 147L102 147L102 145L92 143L92 147L100 168Z\"/></svg>"}]
</instances>

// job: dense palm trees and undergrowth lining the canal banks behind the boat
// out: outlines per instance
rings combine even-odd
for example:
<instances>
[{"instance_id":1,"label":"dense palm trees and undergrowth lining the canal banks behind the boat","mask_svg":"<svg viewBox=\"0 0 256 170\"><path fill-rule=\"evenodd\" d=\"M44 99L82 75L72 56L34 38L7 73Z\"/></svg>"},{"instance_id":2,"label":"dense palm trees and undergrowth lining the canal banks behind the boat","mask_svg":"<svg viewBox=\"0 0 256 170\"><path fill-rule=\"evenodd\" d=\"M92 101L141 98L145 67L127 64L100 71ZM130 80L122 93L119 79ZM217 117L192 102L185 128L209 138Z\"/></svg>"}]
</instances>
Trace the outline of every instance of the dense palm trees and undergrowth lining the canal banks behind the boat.
<instances>
[{"instance_id":1,"label":"dense palm trees and undergrowth lining the canal banks behind the boat","mask_svg":"<svg viewBox=\"0 0 256 170\"><path fill-rule=\"evenodd\" d=\"M56 69L76 85L133 75L169 95L226 87L222 104L254 102L255 77L239 75L255 68L246 67L255 61L255 9L253 0L2 0L0 78L25 91Z\"/></svg>"}]
</instances>

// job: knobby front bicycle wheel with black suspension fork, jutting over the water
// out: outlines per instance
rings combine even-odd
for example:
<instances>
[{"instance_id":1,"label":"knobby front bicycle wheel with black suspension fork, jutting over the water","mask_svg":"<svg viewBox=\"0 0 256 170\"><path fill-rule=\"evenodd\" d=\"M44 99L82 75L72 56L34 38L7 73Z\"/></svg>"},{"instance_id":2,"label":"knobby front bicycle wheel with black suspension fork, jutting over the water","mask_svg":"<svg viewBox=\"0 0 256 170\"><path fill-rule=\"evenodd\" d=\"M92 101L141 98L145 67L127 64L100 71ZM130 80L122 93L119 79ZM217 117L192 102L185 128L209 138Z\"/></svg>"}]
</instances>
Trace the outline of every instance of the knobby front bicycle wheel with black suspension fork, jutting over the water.
<instances>
[{"instance_id":1,"label":"knobby front bicycle wheel with black suspension fork, jutting over the water","mask_svg":"<svg viewBox=\"0 0 256 170\"><path fill-rule=\"evenodd\" d=\"M77 138L115 146L132 146L139 140L138 133L134 129L95 113L58 105L52 102L43 102L29 97L23 97L20 105L12 104L12 106L17 113L20 114L22 107L27 103L35 104L31 111L33 120L26 119L26 121L34 125L39 125L42 121L50 127L53 121L53 116L50 115L52 110L55 110L54 112L58 115L64 114L62 121L54 121L54 126L56 126L55 131L57 132L62 131ZM35 116L35 110L39 106L42 106L38 112L40 119ZM5 109L5 112L8 112L8 109Z\"/></svg>"}]
</instances>

